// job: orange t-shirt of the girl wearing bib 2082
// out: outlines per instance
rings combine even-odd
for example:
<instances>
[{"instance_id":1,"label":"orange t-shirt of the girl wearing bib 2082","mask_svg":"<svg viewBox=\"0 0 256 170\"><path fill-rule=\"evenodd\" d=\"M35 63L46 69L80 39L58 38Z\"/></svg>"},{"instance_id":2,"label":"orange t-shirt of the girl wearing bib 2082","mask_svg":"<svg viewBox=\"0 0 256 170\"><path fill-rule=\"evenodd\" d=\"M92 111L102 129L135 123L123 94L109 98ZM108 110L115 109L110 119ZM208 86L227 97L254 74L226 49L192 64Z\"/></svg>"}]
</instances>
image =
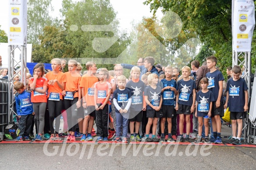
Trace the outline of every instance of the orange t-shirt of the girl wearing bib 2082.
<instances>
[{"instance_id":1,"label":"orange t-shirt of the girl wearing bib 2082","mask_svg":"<svg viewBox=\"0 0 256 170\"><path fill-rule=\"evenodd\" d=\"M78 97L78 85L80 84L80 80L81 80L81 75L78 73L72 73L71 72L65 72L64 73L66 75L66 79L68 81L66 81L65 83L65 91L66 92L75 92L74 98Z\"/></svg>"}]
</instances>

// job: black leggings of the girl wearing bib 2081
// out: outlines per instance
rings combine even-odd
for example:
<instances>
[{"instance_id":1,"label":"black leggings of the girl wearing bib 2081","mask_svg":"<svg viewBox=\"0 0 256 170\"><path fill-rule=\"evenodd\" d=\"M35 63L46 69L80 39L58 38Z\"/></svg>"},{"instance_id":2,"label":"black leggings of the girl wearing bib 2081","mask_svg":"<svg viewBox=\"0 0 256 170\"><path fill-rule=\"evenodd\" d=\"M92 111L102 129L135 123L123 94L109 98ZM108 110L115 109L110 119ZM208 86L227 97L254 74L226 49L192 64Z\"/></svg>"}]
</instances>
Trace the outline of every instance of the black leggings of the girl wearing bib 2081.
<instances>
[{"instance_id":1,"label":"black leggings of the girl wearing bib 2081","mask_svg":"<svg viewBox=\"0 0 256 170\"><path fill-rule=\"evenodd\" d=\"M62 100L48 100L48 110L49 110L49 122L50 122L50 134L54 134L53 122L55 118L55 133L58 134L60 124L61 124L61 109Z\"/></svg>"}]
</instances>

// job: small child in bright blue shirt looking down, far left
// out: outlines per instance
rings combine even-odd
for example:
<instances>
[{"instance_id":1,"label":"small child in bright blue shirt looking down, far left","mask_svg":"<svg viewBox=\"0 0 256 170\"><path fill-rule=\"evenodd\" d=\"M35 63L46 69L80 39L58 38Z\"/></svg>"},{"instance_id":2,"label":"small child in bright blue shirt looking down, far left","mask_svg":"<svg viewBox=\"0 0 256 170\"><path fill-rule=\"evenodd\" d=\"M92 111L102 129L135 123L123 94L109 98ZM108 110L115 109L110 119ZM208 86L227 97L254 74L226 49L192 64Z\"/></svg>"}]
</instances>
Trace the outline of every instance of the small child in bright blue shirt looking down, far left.
<instances>
[{"instance_id":1,"label":"small child in bright blue shirt looking down, far left","mask_svg":"<svg viewBox=\"0 0 256 170\"><path fill-rule=\"evenodd\" d=\"M29 140L30 128L32 124L33 106L31 103L31 92L25 91L24 84L17 82L14 89L18 92L15 95L16 109L19 120L16 141ZM22 137L23 136L23 137Z\"/></svg>"}]
</instances>

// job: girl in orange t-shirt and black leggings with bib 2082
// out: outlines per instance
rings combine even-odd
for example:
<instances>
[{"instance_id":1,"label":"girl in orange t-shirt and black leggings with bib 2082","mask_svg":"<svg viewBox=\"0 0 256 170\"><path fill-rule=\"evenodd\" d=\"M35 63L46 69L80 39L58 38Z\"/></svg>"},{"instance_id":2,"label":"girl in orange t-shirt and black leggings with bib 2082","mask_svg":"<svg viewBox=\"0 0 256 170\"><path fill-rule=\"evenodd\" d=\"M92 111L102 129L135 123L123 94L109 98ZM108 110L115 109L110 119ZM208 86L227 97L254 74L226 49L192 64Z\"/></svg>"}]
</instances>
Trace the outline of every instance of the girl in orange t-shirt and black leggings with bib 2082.
<instances>
[{"instance_id":1,"label":"girl in orange t-shirt and black leggings with bib 2082","mask_svg":"<svg viewBox=\"0 0 256 170\"><path fill-rule=\"evenodd\" d=\"M69 80L65 83L65 90L62 92L64 97L64 106L67 112L69 136L67 140L75 141L75 131L77 124L77 108L81 106L81 89L79 81L81 75L76 72L76 60L69 60L69 71L65 72L66 78Z\"/></svg>"}]
</instances>

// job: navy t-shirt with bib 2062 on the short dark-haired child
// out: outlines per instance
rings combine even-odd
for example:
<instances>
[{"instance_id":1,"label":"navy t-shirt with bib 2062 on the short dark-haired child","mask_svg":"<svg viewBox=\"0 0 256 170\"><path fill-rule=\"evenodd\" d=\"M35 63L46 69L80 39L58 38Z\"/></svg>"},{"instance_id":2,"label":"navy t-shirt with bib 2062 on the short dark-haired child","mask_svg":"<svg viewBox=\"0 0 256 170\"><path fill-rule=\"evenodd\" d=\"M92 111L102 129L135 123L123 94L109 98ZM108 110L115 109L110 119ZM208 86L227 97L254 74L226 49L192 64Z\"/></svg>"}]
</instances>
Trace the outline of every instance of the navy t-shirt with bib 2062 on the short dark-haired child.
<instances>
[{"instance_id":1,"label":"navy t-shirt with bib 2062 on the short dark-haired child","mask_svg":"<svg viewBox=\"0 0 256 170\"><path fill-rule=\"evenodd\" d=\"M204 117L208 115L210 109L210 102L214 102L213 92L209 91L203 93L202 90L196 94L197 101L197 115L199 117Z\"/></svg>"}]
</instances>

